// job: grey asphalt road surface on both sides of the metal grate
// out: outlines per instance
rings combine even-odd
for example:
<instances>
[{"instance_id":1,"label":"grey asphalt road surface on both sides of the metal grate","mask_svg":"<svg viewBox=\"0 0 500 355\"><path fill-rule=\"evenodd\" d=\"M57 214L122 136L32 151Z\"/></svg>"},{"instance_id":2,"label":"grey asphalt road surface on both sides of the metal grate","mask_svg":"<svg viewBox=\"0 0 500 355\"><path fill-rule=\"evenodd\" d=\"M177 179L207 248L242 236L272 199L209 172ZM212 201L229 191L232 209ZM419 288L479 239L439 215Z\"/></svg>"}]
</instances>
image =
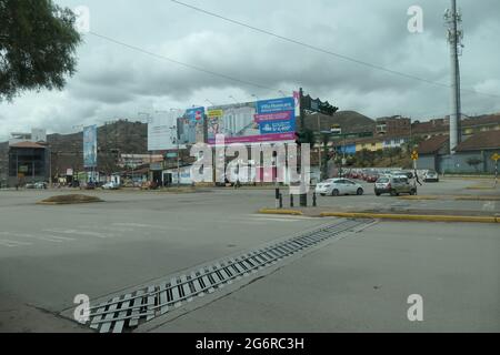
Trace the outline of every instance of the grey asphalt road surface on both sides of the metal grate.
<instances>
[{"instance_id":1,"label":"grey asphalt road surface on both sides of the metal grate","mask_svg":"<svg viewBox=\"0 0 500 355\"><path fill-rule=\"evenodd\" d=\"M470 184L429 189L462 194ZM99 192L106 203L34 204L58 193L0 192L1 332L86 332L61 316L77 294L101 298L326 223L257 215L273 204L272 191ZM379 223L151 331L500 331L498 231ZM418 325L406 318L412 293L429 312Z\"/></svg>"}]
</instances>

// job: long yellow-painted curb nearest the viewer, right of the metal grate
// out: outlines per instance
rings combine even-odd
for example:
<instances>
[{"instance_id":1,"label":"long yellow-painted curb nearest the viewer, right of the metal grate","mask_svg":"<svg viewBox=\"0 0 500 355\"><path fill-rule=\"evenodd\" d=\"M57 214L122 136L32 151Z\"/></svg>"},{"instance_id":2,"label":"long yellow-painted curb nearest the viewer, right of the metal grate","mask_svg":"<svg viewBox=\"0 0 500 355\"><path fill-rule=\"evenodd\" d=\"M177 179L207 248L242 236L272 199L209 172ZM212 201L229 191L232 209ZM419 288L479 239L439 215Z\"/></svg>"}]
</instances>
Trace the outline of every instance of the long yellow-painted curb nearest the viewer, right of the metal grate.
<instances>
[{"instance_id":1,"label":"long yellow-painted curb nearest the viewer, right of the metal grate","mask_svg":"<svg viewBox=\"0 0 500 355\"><path fill-rule=\"evenodd\" d=\"M494 216L379 214L351 212L323 212L320 215L322 217L380 219L398 221L500 223L500 217Z\"/></svg>"}]
</instances>

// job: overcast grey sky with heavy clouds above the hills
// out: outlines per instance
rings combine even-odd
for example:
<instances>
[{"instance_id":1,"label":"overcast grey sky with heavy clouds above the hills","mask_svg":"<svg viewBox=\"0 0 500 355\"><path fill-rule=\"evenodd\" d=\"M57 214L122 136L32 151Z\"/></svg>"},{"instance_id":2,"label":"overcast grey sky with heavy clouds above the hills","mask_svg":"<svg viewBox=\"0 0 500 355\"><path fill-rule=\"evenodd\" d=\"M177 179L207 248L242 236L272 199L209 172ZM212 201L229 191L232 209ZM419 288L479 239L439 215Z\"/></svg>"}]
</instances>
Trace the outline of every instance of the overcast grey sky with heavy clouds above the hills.
<instances>
[{"instance_id":1,"label":"overcast grey sky with heavy clouds above the hills","mask_svg":"<svg viewBox=\"0 0 500 355\"><path fill-rule=\"evenodd\" d=\"M443 12L449 0L182 0L221 16L336 53L449 83ZM78 73L63 91L26 92L0 103L0 140L12 131L140 119L139 112L252 101L303 87L341 110L371 118L449 113L449 89L323 54L168 0L57 0L86 6L91 31L173 60L273 90L188 69L84 34ZM499 0L458 0L463 12L462 88L500 95ZM407 28L410 6L423 9L423 33ZM500 111L500 97L463 92L467 114Z\"/></svg>"}]
</instances>

